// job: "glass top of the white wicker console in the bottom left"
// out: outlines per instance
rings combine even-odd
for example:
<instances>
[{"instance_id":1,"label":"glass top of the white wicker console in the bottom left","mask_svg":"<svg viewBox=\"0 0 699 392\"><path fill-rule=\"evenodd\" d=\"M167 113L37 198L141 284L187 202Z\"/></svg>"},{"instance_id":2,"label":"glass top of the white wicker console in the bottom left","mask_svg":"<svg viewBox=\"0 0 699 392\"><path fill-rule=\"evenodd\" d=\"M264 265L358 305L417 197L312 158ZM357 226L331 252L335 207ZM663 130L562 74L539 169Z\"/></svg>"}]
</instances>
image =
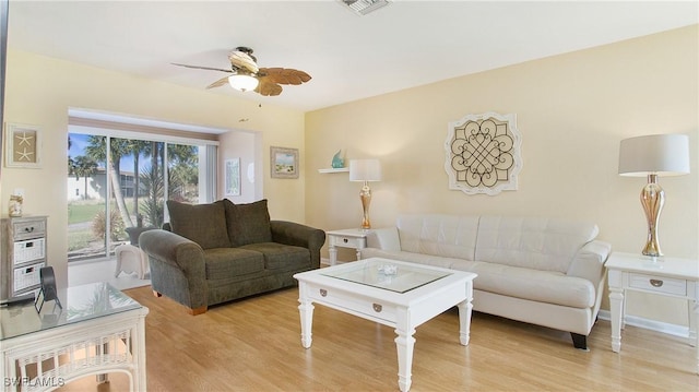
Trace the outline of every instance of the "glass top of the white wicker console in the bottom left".
<instances>
[{"instance_id":1,"label":"glass top of the white wicker console in the bottom left","mask_svg":"<svg viewBox=\"0 0 699 392\"><path fill-rule=\"evenodd\" d=\"M13 304L0 308L0 340L48 330L122 311L141 305L108 283L92 283L58 290L62 308L56 301Z\"/></svg>"}]
</instances>

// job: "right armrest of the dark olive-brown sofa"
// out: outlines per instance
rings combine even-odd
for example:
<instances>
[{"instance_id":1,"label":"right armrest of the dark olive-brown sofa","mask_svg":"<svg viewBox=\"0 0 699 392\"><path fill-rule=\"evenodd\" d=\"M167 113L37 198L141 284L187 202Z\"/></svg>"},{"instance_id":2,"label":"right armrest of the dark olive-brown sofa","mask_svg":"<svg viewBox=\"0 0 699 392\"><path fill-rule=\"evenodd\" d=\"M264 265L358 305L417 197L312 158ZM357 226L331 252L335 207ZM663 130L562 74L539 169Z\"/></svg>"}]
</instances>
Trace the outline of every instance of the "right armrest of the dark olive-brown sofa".
<instances>
[{"instance_id":1,"label":"right armrest of the dark olive-brown sofa","mask_svg":"<svg viewBox=\"0 0 699 392\"><path fill-rule=\"evenodd\" d=\"M320 248L325 243L325 231L287 221L271 221L270 226L274 242L308 249L311 266L320 268Z\"/></svg>"}]
</instances>

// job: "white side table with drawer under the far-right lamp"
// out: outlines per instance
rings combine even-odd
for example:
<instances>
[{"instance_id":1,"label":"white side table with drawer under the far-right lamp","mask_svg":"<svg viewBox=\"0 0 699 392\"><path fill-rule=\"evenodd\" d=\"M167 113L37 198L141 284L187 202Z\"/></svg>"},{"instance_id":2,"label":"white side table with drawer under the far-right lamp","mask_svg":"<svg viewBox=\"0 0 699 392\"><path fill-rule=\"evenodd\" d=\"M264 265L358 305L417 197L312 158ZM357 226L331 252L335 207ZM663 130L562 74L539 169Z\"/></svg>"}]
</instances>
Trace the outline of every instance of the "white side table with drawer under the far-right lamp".
<instances>
[{"instance_id":1,"label":"white side table with drawer under the far-right lamp","mask_svg":"<svg viewBox=\"0 0 699 392\"><path fill-rule=\"evenodd\" d=\"M642 254L613 252L605 266L609 284L612 351L621 349L626 290L657 294L687 299L689 304L689 341L697 347L699 375L699 261L677 258L651 258Z\"/></svg>"}]
</instances>

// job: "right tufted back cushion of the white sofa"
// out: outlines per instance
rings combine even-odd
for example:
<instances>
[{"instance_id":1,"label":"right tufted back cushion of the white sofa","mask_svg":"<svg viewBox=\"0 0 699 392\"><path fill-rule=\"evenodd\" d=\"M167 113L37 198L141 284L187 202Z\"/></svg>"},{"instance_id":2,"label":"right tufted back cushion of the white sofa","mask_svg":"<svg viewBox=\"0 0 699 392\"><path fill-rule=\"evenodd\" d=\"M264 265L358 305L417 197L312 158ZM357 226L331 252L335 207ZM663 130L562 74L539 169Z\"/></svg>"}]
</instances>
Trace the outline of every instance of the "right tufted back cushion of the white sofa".
<instances>
[{"instance_id":1,"label":"right tufted back cushion of the white sofa","mask_svg":"<svg viewBox=\"0 0 699 392\"><path fill-rule=\"evenodd\" d=\"M584 222L482 216L475 260L566 273L597 233L596 225Z\"/></svg>"}]
</instances>

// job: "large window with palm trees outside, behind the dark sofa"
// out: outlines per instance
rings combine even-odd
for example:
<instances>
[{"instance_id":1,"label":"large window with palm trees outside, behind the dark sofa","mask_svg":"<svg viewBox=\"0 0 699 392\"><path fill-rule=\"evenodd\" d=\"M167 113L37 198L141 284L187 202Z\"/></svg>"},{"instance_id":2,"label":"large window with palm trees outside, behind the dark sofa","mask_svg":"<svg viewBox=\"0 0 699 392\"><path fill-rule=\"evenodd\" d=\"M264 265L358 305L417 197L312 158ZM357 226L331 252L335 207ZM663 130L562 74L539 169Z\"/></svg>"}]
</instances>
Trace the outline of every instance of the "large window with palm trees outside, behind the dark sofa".
<instances>
[{"instance_id":1,"label":"large window with palm trees outside, behind the dark sofa","mask_svg":"<svg viewBox=\"0 0 699 392\"><path fill-rule=\"evenodd\" d=\"M168 199L215 198L215 165L208 163L216 162L217 143L117 128L69 127L69 262L112 254L131 227L162 227Z\"/></svg>"}]
</instances>

